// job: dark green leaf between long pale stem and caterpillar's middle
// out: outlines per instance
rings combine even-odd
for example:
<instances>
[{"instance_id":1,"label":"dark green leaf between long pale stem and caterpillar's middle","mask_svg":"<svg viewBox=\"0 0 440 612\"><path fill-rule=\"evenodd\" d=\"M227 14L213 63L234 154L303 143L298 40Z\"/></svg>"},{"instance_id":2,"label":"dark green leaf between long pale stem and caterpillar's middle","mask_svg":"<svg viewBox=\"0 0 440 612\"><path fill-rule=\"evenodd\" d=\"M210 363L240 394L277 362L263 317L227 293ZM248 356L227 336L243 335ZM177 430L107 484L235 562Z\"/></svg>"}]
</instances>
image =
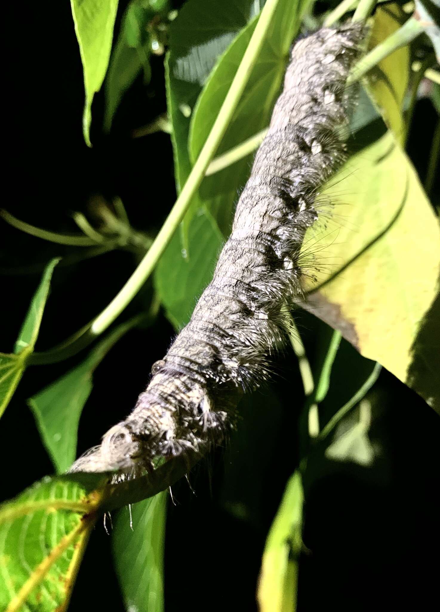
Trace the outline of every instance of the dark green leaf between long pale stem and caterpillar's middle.
<instances>
[{"instance_id":1,"label":"dark green leaf between long pale stem and caterpillar's middle","mask_svg":"<svg viewBox=\"0 0 440 612\"><path fill-rule=\"evenodd\" d=\"M200 211L189 225L191 257L185 257L180 237L174 234L166 256L156 267L155 287L171 323L188 323L197 299L210 283L222 247L222 235L208 213Z\"/></svg>"}]
</instances>

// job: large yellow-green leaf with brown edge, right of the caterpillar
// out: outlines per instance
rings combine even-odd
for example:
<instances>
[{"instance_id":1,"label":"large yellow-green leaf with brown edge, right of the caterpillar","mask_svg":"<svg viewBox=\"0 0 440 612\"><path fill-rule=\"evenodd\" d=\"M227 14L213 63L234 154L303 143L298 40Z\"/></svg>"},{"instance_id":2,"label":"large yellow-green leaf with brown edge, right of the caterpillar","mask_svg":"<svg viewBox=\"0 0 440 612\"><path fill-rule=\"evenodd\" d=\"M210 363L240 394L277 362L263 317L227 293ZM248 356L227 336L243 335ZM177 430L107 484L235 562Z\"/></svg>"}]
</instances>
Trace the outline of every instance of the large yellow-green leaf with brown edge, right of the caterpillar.
<instances>
[{"instance_id":1,"label":"large yellow-green leaf with brown edge, right of the caterpillar","mask_svg":"<svg viewBox=\"0 0 440 612\"><path fill-rule=\"evenodd\" d=\"M306 280L307 308L440 411L440 231L413 165L388 132L322 193L336 207L304 241L304 258L323 264Z\"/></svg>"}]
</instances>

